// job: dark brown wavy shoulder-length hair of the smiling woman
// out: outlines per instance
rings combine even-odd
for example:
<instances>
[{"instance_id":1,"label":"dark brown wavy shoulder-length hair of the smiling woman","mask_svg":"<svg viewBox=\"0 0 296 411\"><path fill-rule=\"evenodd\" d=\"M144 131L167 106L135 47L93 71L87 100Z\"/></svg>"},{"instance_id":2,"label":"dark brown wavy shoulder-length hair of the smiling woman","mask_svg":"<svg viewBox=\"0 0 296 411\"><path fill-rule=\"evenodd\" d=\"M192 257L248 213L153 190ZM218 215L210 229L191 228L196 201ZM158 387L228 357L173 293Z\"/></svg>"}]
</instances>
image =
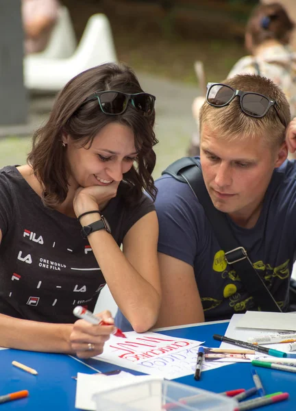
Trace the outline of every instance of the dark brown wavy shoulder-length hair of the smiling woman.
<instances>
[{"instance_id":1,"label":"dark brown wavy shoulder-length hair of the smiling woman","mask_svg":"<svg viewBox=\"0 0 296 411\"><path fill-rule=\"evenodd\" d=\"M145 189L155 200L157 189L151 173L156 163L153 145L158 140L153 132L155 112L143 116L132 104L118 116L104 114L98 101L88 101L94 92L117 90L126 93L143 92L136 75L125 64L107 63L80 73L69 81L58 95L49 120L36 131L32 151L27 162L34 170L43 187L42 201L54 208L66 199L68 192L69 164L66 162L66 148L62 147L62 134L69 134L80 147L89 148L100 130L110 123L127 125L134 132L138 151L136 166L125 173L127 182L125 200L136 203Z\"/></svg>"}]
</instances>

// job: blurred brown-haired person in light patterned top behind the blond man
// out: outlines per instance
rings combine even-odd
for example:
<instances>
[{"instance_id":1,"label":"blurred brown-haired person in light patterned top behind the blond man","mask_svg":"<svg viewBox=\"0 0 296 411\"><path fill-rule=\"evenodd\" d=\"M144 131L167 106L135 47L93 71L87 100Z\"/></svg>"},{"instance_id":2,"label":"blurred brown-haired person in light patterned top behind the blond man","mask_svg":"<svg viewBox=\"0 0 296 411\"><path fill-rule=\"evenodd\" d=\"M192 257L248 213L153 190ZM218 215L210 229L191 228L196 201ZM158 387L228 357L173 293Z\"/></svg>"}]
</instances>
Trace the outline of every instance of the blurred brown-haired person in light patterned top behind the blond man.
<instances>
[{"instance_id":1,"label":"blurred brown-haired person in light patterned top behind the blond man","mask_svg":"<svg viewBox=\"0 0 296 411\"><path fill-rule=\"evenodd\" d=\"M256 6L245 32L245 47L251 54L240 58L227 75L256 74L271 79L284 91L292 118L296 116L296 54L290 47L294 26L280 3ZM199 155L199 112L204 100L200 96L193 101L197 132L190 142L189 155Z\"/></svg>"}]
</instances>

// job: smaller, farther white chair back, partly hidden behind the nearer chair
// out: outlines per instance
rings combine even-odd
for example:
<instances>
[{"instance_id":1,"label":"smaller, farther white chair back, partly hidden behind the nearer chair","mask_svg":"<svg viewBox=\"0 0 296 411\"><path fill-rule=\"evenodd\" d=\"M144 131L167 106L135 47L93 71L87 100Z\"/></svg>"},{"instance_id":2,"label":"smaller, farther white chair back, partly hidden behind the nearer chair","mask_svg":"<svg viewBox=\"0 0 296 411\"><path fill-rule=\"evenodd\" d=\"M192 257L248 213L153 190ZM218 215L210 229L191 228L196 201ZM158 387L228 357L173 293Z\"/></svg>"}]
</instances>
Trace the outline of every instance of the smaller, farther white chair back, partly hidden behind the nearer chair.
<instances>
[{"instance_id":1,"label":"smaller, farther white chair back, partly hidden behind the nearer chair","mask_svg":"<svg viewBox=\"0 0 296 411\"><path fill-rule=\"evenodd\" d=\"M63 5L58 10L58 21L53 27L45 50L25 56L26 60L36 58L68 58L77 46L74 27L69 10Z\"/></svg>"}]
</instances>

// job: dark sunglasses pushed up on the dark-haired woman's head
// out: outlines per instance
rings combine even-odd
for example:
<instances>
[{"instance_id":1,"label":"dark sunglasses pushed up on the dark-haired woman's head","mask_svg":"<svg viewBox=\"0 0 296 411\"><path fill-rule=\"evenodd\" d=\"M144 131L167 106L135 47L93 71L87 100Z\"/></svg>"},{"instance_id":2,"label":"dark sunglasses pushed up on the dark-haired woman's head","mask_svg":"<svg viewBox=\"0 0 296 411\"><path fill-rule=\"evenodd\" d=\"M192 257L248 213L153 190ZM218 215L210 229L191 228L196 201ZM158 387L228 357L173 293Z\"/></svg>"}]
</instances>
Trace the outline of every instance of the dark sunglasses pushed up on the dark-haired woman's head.
<instances>
[{"instance_id":1,"label":"dark sunglasses pushed up on the dark-haired woman's head","mask_svg":"<svg viewBox=\"0 0 296 411\"><path fill-rule=\"evenodd\" d=\"M140 111L143 116L151 116L154 110L156 97L147 92L137 92L127 94L122 91L108 90L95 92L88 97L84 103L91 100L99 101L99 106L103 113L111 116L123 114L127 109L127 104L131 101L136 110Z\"/></svg>"}]
</instances>

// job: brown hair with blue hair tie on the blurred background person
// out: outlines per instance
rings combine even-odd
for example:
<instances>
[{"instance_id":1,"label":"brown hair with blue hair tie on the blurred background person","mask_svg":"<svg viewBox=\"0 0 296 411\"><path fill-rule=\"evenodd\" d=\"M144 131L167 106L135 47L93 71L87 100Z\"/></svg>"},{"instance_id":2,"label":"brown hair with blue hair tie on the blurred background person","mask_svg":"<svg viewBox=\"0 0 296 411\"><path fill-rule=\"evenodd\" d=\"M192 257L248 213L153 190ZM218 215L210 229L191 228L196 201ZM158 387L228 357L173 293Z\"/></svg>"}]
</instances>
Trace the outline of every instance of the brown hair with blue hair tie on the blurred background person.
<instances>
[{"instance_id":1,"label":"brown hair with blue hair tie on the blurred background person","mask_svg":"<svg viewBox=\"0 0 296 411\"><path fill-rule=\"evenodd\" d=\"M280 3L260 4L249 17L246 33L251 35L252 45L255 47L270 39L287 45L294 25Z\"/></svg>"}]
</instances>

